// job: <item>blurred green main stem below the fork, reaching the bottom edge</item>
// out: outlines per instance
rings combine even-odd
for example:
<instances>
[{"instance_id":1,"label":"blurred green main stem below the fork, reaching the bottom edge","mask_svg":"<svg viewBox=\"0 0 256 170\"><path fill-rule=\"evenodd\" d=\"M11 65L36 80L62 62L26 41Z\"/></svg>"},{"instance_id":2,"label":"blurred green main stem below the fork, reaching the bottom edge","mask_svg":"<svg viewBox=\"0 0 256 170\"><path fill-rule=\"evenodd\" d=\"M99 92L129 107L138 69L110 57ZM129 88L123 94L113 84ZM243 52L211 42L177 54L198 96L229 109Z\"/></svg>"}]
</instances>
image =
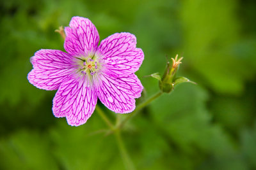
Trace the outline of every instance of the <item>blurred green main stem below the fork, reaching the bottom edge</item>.
<instances>
[{"instance_id":1,"label":"blurred green main stem below the fork, reaching the bottom edge","mask_svg":"<svg viewBox=\"0 0 256 170\"><path fill-rule=\"evenodd\" d=\"M118 148L120 150L120 153L121 153L121 157L124 161L124 165L126 167L127 170L133 170L135 169L133 163L132 163L132 160L131 158L129 157L128 153L127 153L127 150L124 146L124 142L122 140L122 136L120 134L120 131L118 129L116 129L115 131L115 136L116 136L116 141L117 141L117 145L118 145Z\"/></svg>"}]
</instances>

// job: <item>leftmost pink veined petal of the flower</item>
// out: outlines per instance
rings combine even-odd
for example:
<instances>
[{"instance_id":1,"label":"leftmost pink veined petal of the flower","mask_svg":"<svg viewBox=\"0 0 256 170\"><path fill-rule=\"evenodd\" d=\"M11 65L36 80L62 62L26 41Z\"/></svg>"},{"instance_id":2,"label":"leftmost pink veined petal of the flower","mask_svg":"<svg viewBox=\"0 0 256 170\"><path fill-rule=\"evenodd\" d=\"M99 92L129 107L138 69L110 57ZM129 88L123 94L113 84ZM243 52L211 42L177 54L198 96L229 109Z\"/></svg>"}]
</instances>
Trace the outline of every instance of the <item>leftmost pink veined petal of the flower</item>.
<instances>
[{"instance_id":1,"label":"leftmost pink veined petal of the flower","mask_svg":"<svg viewBox=\"0 0 256 170\"><path fill-rule=\"evenodd\" d=\"M39 50L31 57L33 69L29 83L44 90L57 90L60 83L72 72L72 57L60 50Z\"/></svg>"}]
</instances>

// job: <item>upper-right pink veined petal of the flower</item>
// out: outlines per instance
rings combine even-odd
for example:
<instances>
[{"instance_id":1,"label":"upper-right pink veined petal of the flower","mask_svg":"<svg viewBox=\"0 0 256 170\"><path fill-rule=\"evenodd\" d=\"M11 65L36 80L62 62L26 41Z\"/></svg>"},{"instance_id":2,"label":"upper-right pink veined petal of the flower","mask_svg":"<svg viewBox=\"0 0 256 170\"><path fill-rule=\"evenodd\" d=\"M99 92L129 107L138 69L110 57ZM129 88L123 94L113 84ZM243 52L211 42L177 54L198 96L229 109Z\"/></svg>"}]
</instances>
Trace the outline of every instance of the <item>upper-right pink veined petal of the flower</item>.
<instances>
[{"instance_id":1,"label":"upper-right pink veined petal of the flower","mask_svg":"<svg viewBox=\"0 0 256 170\"><path fill-rule=\"evenodd\" d=\"M128 32L116 33L103 39L98 48L106 71L113 76L135 73L144 59L144 53L136 48L136 37Z\"/></svg>"}]
</instances>

